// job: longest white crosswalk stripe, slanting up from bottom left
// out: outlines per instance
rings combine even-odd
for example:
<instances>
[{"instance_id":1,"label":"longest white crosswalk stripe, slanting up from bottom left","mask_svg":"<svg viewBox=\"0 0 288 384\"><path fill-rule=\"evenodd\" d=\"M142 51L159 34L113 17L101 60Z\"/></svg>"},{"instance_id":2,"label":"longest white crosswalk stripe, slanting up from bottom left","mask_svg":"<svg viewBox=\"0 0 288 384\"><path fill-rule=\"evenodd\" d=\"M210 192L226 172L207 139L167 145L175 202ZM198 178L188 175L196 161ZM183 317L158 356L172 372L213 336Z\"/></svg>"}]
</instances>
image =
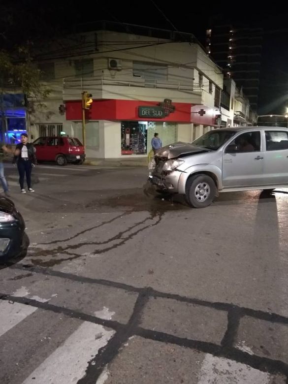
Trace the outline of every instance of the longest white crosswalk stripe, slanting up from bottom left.
<instances>
[{"instance_id":1,"label":"longest white crosswalk stripe, slanting up from bottom left","mask_svg":"<svg viewBox=\"0 0 288 384\"><path fill-rule=\"evenodd\" d=\"M102 325L83 322L23 384L76 384L85 375L92 356L108 343L113 334L114 331L107 331Z\"/></svg>"}]
</instances>

